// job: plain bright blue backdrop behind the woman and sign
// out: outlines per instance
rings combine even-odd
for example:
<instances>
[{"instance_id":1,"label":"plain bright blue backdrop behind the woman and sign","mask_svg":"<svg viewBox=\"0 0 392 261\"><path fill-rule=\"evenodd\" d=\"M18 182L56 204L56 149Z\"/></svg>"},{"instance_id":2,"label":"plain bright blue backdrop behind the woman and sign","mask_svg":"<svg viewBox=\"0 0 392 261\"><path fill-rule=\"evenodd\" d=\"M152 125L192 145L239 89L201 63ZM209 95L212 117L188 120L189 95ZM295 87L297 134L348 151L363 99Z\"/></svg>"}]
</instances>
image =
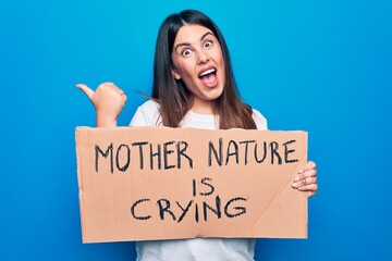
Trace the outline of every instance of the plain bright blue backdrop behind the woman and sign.
<instances>
[{"instance_id":1,"label":"plain bright blue backdrop behind the woman and sign","mask_svg":"<svg viewBox=\"0 0 392 261\"><path fill-rule=\"evenodd\" d=\"M0 260L134 260L133 243L82 244L74 129L95 112L74 85L114 82L128 124L160 23L187 8L219 25L269 127L309 132L309 238L259 239L256 260L392 260L387 0L1 0Z\"/></svg>"}]
</instances>

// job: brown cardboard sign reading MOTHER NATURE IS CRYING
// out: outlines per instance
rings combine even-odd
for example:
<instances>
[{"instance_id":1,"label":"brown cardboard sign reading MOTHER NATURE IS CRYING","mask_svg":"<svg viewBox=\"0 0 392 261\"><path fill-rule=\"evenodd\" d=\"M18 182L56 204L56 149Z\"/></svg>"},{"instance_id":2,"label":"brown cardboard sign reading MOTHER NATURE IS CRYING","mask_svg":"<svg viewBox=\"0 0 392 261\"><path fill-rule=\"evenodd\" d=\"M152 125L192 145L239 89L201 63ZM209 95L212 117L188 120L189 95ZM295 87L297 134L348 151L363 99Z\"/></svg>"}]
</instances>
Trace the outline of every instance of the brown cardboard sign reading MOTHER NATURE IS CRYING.
<instances>
[{"instance_id":1,"label":"brown cardboard sign reading MOTHER NATURE IS CRYING","mask_svg":"<svg viewBox=\"0 0 392 261\"><path fill-rule=\"evenodd\" d=\"M307 133L76 128L84 243L307 237Z\"/></svg>"}]
</instances>

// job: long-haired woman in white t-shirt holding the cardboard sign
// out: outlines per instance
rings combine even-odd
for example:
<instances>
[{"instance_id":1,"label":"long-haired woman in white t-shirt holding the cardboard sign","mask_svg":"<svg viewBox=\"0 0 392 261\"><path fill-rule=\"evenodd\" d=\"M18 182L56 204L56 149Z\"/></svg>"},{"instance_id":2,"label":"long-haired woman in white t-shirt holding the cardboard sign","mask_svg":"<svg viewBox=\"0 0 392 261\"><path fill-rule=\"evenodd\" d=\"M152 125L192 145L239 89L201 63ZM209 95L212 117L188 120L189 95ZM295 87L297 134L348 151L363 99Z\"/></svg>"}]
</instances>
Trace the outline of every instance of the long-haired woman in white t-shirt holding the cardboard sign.
<instances>
[{"instance_id":1,"label":"long-haired woman in white t-shirt holding the cardboard sign","mask_svg":"<svg viewBox=\"0 0 392 261\"><path fill-rule=\"evenodd\" d=\"M126 101L112 83L96 91L77 85L96 108L97 127L114 127ZM267 129L266 119L245 104L236 90L228 47L205 14L185 10L162 23L155 51L152 97L142 104L131 126L163 125L228 129ZM316 164L308 162L293 187L317 191ZM138 260L254 260L255 239L193 238L140 241Z\"/></svg>"}]
</instances>

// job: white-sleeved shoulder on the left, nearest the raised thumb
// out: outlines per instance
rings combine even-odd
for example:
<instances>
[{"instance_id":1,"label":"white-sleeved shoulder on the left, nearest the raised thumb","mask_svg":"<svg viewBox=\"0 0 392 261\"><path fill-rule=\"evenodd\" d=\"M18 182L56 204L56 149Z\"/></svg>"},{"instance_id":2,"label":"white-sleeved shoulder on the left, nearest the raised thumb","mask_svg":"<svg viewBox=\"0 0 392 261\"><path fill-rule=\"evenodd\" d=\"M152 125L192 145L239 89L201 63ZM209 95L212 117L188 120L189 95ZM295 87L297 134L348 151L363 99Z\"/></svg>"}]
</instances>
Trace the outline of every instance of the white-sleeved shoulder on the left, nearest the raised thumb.
<instances>
[{"instance_id":1,"label":"white-sleeved shoulder on the left, nearest the raised thumb","mask_svg":"<svg viewBox=\"0 0 392 261\"><path fill-rule=\"evenodd\" d=\"M156 126L160 124L159 104L148 100L137 108L130 126Z\"/></svg>"}]
</instances>

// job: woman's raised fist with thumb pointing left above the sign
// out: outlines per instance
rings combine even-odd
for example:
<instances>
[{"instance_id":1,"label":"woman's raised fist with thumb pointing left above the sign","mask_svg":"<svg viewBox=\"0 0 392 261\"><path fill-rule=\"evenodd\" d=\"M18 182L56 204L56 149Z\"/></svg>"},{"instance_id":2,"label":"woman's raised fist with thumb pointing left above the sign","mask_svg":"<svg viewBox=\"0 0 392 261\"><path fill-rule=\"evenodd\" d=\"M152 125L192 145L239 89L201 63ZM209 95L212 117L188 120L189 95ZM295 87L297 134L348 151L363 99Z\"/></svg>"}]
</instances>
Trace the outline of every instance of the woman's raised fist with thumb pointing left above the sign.
<instances>
[{"instance_id":1,"label":"woman's raised fist with thumb pointing left above the sign","mask_svg":"<svg viewBox=\"0 0 392 261\"><path fill-rule=\"evenodd\" d=\"M124 91L113 83L103 83L95 91L84 84L77 84L76 87L93 102L97 127L115 127L118 116L126 101Z\"/></svg>"}]
</instances>

